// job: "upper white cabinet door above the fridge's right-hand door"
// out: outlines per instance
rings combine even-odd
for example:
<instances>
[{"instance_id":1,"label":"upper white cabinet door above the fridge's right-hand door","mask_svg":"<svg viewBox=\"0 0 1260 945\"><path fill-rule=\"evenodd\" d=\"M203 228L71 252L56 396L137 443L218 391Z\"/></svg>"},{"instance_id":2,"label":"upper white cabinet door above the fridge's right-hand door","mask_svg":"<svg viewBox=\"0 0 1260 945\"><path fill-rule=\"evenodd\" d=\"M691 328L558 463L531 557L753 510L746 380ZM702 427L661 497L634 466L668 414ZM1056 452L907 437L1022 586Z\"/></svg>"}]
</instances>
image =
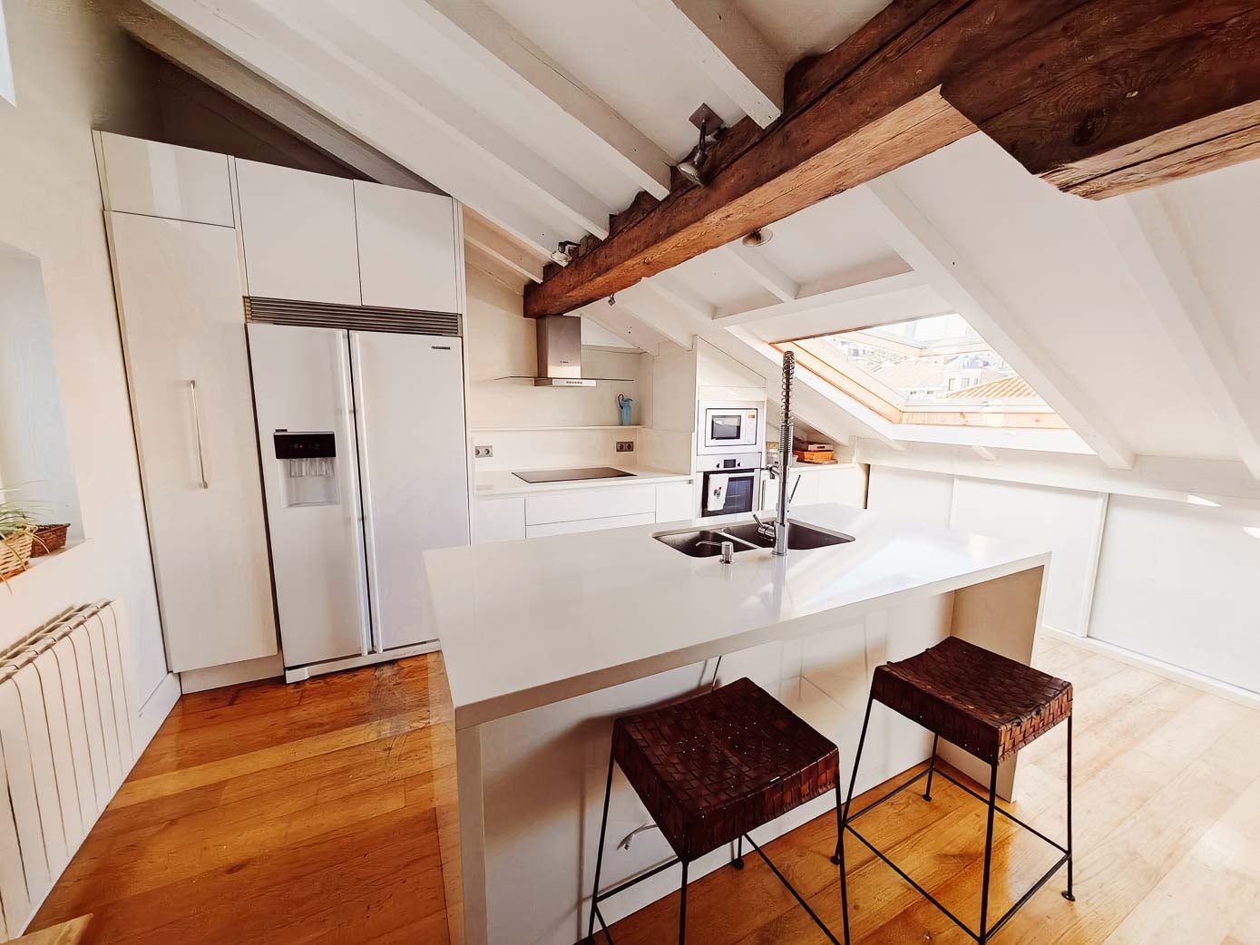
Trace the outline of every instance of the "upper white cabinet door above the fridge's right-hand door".
<instances>
[{"instance_id":1,"label":"upper white cabinet door above the fridge's right-hand door","mask_svg":"<svg viewBox=\"0 0 1260 945\"><path fill-rule=\"evenodd\" d=\"M354 181L364 305L460 311L456 209L441 194Z\"/></svg>"}]
</instances>

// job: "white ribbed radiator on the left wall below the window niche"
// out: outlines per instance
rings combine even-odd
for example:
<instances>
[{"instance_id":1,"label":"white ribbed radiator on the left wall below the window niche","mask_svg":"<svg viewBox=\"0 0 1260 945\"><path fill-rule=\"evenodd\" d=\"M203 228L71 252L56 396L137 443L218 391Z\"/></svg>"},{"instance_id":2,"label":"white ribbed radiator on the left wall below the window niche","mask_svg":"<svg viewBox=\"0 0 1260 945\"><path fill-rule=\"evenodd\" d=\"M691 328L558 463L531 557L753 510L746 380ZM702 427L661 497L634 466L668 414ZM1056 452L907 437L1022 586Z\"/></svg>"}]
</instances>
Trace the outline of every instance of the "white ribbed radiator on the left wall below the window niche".
<instances>
[{"instance_id":1,"label":"white ribbed radiator on the left wall below the window niche","mask_svg":"<svg viewBox=\"0 0 1260 945\"><path fill-rule=\"evenodd\" d=\"M0 941L18 936L135 762L108 602L0 650Z\"/></svg>"}]
</instances>

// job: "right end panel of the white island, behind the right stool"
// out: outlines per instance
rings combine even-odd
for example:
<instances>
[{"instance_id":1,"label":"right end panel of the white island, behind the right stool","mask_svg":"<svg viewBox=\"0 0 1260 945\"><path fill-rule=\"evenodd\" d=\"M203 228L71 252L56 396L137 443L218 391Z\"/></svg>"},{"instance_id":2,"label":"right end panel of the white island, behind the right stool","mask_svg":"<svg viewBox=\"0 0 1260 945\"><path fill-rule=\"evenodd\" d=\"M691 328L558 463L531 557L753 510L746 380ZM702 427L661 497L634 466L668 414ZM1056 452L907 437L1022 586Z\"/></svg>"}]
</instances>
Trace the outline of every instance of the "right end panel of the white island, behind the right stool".
<instances>
[{"instance_id":1,"label":"right end panel of the white island, behind the right stool","mask_svg":"<svg viewBox=\"0 0 1260 945\"><path fill-rule=\"evenodd\" d=\"M964 587L954 593L953 634L976 646L1028 665L1037 643L1046 604L1046 570L1017 571L1005 577ZM989 766L956 745L942 742L940 757L983 788L989 784ZM998 766L998 796L1016 799L1019 756Z\"/></svg>"}]
</instances>

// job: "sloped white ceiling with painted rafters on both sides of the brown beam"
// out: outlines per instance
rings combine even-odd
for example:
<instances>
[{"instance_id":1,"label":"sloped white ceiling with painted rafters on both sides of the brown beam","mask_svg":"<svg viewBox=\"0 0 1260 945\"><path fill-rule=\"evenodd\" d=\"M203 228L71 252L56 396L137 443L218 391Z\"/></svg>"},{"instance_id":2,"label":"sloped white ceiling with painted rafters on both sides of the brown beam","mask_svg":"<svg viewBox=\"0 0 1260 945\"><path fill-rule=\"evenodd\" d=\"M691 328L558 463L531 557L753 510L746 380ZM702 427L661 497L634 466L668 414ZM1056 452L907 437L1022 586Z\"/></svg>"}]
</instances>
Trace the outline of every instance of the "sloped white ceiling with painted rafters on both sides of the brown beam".
<instances>
[{"instance_id":1,"label":"sloped white ceiling with painted rafters on both sides of the brown beam","mask_svg":"<svg viewBox=\"0 0 1260 945\"><path fill-rule=\"evenodd\" d=\"M687 24L679 35L659 0L145 1L476 210L493 224L470 228L476 258L505 261L499 275L518 285L538 270L514 257L602 237L640 189L668 192L697 105L728 123L743 116L738 76L688 54ZM885 0L706 3L791 63ZM1260 381L1260 163L1152 193L1109 213L974 135L776 223L764 247L722 247L648 280L601 314L619 334L638 326L649 348L701 334L771 373L766 339L932 314L961 286L988 340L1053 382L1052 404L1102 461L1242 459L1260 475L1260 416L1246 398ZM828 415L815 426L882 435L843 396L811 404Z\"/></svg>"}]
</instances>

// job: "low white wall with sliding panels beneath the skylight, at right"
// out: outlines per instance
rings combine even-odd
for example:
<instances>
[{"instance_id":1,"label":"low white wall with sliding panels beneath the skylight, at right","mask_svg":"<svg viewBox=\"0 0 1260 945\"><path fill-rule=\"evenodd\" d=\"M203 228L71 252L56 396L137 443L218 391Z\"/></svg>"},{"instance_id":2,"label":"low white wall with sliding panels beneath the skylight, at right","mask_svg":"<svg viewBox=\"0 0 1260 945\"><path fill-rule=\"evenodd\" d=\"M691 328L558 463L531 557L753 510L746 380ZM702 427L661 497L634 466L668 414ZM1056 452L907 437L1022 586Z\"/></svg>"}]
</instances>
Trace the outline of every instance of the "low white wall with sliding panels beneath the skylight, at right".
<instances>
[{"instance_id":1,"label":"low white wall with sliding panels beneath the skylight, at right","mask_svg":"<svg viewBox=\"0 0 1260 945\"><path fill-rule=\"evenodd\" d=\"M876 464L868 508L1036 542L1046 626L1260 693L1260 501L1174 496Z\"/></svg>"}]
</instances>

